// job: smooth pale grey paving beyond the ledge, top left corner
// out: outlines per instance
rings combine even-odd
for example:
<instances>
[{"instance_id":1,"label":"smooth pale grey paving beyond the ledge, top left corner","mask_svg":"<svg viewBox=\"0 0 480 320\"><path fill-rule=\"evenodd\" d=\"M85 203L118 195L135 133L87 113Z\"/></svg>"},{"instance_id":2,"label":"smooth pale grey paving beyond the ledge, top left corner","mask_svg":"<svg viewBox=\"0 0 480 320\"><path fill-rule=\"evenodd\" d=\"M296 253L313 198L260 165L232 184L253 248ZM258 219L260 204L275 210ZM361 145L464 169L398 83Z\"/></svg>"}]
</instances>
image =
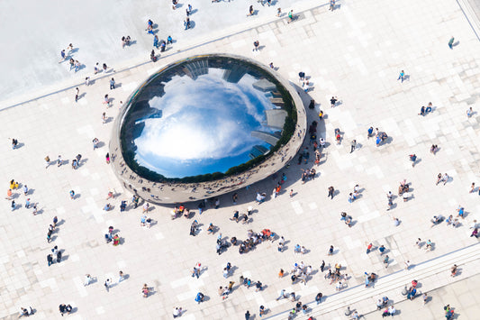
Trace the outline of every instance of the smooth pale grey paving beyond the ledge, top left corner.
<instances>
[{"instance_id":1,"label":"smooth pale grey paving beyond the ledge, top left corner","mask_svg":"<svg viewBox=\"0 0 480 320\"><path fill-rule=\"evenodd\" d=\"M148 59L154 49L153 35L145 31L149 19L157 26L158 38L167 41L171 35L175 41L172 50L180 50L230 34L232 29L245 29L252 21L275 17L279 6L286 15L293 4L297 9L316 3L281 0L279 4L273 0L276 5L262 6L253 0L178 2L177 9L173 10L171 0L3 1L0 44L5 49L0 61L4 74L0 80L0 101L16 101L15 98L24 93L39 96L51 92L50 86L85 79L93 72L96 62L121 68ZM192 29L185 31L188 4L193 7ZM247 17L249 5L253 5L256 12ZM127 35L131 36L132 44L122 48L122 36ZM71 57L83 65L77 73L73 69L69 71L68 60L58 63L60 51L69 43L77 48Z\"/></svg>"}]
</instances>

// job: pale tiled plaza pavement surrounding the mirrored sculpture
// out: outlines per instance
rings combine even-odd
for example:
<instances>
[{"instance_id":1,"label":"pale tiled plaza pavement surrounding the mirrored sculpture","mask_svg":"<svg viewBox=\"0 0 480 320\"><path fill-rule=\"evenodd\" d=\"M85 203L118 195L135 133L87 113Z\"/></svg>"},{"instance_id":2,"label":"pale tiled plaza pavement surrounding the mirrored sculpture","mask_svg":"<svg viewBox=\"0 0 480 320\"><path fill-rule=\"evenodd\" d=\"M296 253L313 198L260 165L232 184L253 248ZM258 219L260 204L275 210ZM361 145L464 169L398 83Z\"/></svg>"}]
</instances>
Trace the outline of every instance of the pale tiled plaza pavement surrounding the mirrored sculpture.
<instances>
[{"instance_id":1,"label":"pale tiled plaza pavement surrounding the mirrored sculpture","mask_svg":"<svg viewBox=\"0 0 480 320\"><path fill-rule=\"evenodd\" d=\"M402 299L399 292L411 280L408 272L428 291L476 274L476 247L469 246L477 240L469 237L468 225L474 219L480 221L480 197L478 191L468 191L472 182L480 185L480 48L457 3L342 3L333 13L326 6L313 7L294 23L283 19L251 27L195 50L165 57L157 64L114 73L120 86L113 91L108 90L110 75L97 78L90 87L79 87L81 98L77 104L74 90L69 89L2 111L5 143L0 146L0 177L5 181L5 191L12 178L28 185L32 189L28 197L39 202L41 215L33 216L32 210L23 207L25 196L21 190L15 191L15 201L22 206L14 212L10 211L10 202L4 201L0 220L0 318L16 317L20 306L34 307L38 318L59 317L58 306L66 303L75 307L75 313L69 315L75 319L168 319L174 306L186 309L182 316L186 319L242 319L246 310L258 318L260 305L269 309L268 316L285 319L285 310L294 304L286 299L276 301L282 288L294 291L303 303L311 302L319 291L327 296L321 305L312 307L312 315L318 319L344 318L345 306L358 309L366 318L375 318L377 314L370 312L376 308L376 298L384 295L383 289L395 302ZM452 35L459 43L450 50L447 43ZM254 40L265 48L252 52ZM300 169L312 168L312 156L307 164L297 165L294 160L282 170L288 178L282 194L265 204L252 203L255 191L270 194L277 178L241 190L236 206L227 195L221 197L219 209L209 208L201 216L194 210L189 220L172 221L170 208L152 206L149 215L157 223L150 229L141 227L141 208L119 212L120 201L130 201L131 195L122 189L104 160L120 101L125 101L143 79L161 66L190 54L219 51L245 55L265 64L273 61L278 73L296 84L300 70L311 77L312 90L301 95L305 103L315 99L325 112L318 130L330 143L316 168L320 173L313 181L302 184ZM117 69L114 63L112 66ZM401 69L410 76L403 83L396 80ZM109 109L101 104L106 93L114 98ZM335 108L329 102L333 95L342 102ZM418 115L421 105L429 101L434 105L433 112ZM467 118L470 106L475 114ZM101 120L103 112L111 117L105 124ZM318 120L317 111L308 112L310 122ZM391 139L376 147L372 139L367 140L370 125L385 131ZM333 142L335 128L344 133L340 145ZM95 137L104 144L93 151ZM21 147L11 150L6 138L18 139ZM358 149L349 153L353 139ZM430 153L433 143L439 145L436 155ZM84 159L79 169L73 170L69 164L45 169L46 155L51 160L59 154L64 160L72 160L77 153ZM408 160L412 153L420 159L414 168ZM435 186L439 172L448 172L452 177L446 185ZM403 202L395 197L393 210L386 211L386 192L392 190L396 195L403 178L412 183L412 199ZM349 204L349 192L356 184L361 187L361 197ZM327 198L329 186L339 191L332 200ZM70 189L77 193L74 200L68 196ZM111 201L113 211L104 212L109 189L114 189L118 197ZM295 192L292 198L288 196L290 189ZM256 209L250 224L229 220L233 210L245 212L249 205ZM455 215L458 205L467 212L460 226L452 228L442 223L430 227L432 215ZM189 206L195 208L196 204ZM353 216L355 224L351 228L340 222L342 211ZM55 215L61 224L49 244L46 234ZM392 216L399 217L399 226L394 226ZM201 232L192 237L188 232L194 219L203 225ZM210 223L220 231L207 234ZM118 247L104 242L109 225L122 237ZM215 254L218 233L243 240L249 229L259 232L263 228L285 236L287 250L280 253L276 242L266 242L243 255L236 247L220 256ZM418 237L423 242L434 242L434 250L415 248ZM385 244L390 257L388 269L378 251L366 253L368 242ZM308 252L295 255L296 243ZM65 250L64 261L48 267L46 256L54 245ZM330 245L336 252L327 256ZM467 252L458 251L462 248ZM322 260L331 266L341 263L345 268L342 272L349 274L348 287L338 295L318 270ZM403 270L407 260L415 265L410 271ZM461 272L452 279L449 267L455 260L460 261ZM193 279L191 270L197 261L206 269L200 279ZM229 279L223 279L222 269L228 261L235 267L234 272ZM315 270L306 286L291 285L289 275L277 278L280 268L289 272L293 263L300 261ZM128 279L105 292L104 280L112 278L115 283L119 270ZM366 271L376 272L380 279L375 288L362 290ZM84 287L86 273L97 281ZM260 280L266 288L259 292L240 288L240 275ZM472 302L474 297L478 299L478 279L468 279L473 287L462 287L467 290L457 297L462 301L464 296L470 298L468 303L457 304L453 298L454 302L450 302L461 318L474 318L478 311ZM235 289L222 300L217 289L230 280L236 282ZM148 298L140 293L144 283L154 288ZM198 291L207 297L201 305L194 301ZM351 292L358 296L350 304ZM400 302L397 307L402 315L417 310L415 305L411 311L408 303ZM432 303L437 303L435 298ZM425 318L441 318L441 314Z\"/></svg>"}]
</instances>

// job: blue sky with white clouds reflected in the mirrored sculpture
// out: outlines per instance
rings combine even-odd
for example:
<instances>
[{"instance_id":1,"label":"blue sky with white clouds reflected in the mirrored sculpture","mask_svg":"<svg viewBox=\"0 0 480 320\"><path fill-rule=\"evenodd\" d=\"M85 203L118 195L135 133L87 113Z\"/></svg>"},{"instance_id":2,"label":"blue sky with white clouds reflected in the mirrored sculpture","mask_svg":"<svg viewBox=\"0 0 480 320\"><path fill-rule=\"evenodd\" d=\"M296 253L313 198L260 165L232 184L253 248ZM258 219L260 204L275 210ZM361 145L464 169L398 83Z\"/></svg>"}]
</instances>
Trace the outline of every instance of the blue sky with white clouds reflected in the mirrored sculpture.
<instances>
[{"instance_id":1,"label":"blue sky with white clouds reflected in the mirrored sculpture","mask_svg":"<svg viewBox=\"0 0 480 320\"><path fill-rule=\"evenodd\" d=\"M252 87L258 78L247 73L229 82L224 69L205 73L193 78L179 74L162 82L163 95L148 101L161 115L136 116L136 123L144 124L132 137L141 166L167 178L184 178L225 172L250 160L255 146L271 148L250 134L279 131L267 126L264 111L279 107L270 102L270 92Z\"/></svg>"}]
</instances>

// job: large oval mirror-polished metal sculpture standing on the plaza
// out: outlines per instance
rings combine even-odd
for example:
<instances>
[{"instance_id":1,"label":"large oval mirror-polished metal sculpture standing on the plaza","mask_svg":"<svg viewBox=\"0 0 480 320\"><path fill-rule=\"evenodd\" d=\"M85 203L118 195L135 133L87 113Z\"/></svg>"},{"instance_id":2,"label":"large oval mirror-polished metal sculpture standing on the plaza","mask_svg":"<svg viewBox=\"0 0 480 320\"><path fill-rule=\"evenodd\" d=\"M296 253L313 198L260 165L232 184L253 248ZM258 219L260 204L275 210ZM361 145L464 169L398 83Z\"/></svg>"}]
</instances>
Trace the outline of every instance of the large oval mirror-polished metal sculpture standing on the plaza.
<instances>
[{"instance_id":1,"label":"large oval mirror-polished metal sculpture standing on the plaza","mask_svg":"<svg viewBox=\"0 0 480 320\"><path fill-rule=\"evenodd\" d=\"M202 55L159 69L131 94L109 151L123 187L172 204L267 178L294 157L305 128L300 96L271 69Z\"/></svg>"}]
</instances>

